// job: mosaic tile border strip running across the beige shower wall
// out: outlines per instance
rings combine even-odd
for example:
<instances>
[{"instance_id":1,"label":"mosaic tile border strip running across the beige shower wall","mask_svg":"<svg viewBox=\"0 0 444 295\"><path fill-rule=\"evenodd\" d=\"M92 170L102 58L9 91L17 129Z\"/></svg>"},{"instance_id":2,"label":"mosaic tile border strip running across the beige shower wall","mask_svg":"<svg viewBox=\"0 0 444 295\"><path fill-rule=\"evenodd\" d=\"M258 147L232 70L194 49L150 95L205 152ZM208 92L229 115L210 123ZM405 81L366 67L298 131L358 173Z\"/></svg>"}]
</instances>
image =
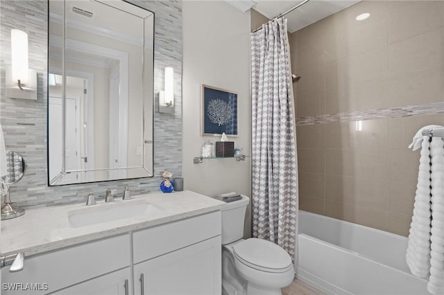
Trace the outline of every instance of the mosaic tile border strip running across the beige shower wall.
<instances>
[{"instance_id":1,"label":"mosaic tile border strip running across the beige shower wall","mask_svg":"<svg viewBox=\"0 0 444 295\"><path fill-rule=\"evenodd\" d=\"M330 122L350 122L372 120L376 118L399 118L406 116L444 114L444 101L424 105L407 105L390 109L370 109L368 111L351 111L349 113L326 114L320 116L300 117L296 125L317 125Z\"/></svg>"}]
</instances>

